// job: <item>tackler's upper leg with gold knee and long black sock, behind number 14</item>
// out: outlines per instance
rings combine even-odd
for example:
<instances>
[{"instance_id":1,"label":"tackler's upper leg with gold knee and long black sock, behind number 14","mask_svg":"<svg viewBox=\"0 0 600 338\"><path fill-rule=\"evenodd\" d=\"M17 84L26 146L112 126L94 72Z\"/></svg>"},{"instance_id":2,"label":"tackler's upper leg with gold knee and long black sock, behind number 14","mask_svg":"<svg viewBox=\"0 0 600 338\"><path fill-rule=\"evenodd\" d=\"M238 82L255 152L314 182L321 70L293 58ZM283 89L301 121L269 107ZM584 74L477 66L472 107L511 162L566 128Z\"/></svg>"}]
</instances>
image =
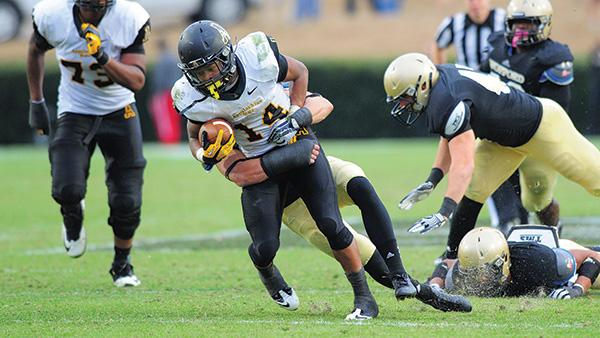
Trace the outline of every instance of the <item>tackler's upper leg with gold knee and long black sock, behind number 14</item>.
<instances>
[{"instance_id":1,"label":"tackler's upper leg with gold knee and long black sock, behind number 14","mask_svg":"<svg viewBox=\"0 0 600 338\"><path fill-rule=\"evenodd\" d=\"M337 187L338 200L349 200L362 215L363 224L377 251L384 258L394 283L396 297L412 297L417 290L404 269L392 219L364 171L354 163L327 157ZM341 204L340 203L340 204Z\"/></svg>"}]
</instances>

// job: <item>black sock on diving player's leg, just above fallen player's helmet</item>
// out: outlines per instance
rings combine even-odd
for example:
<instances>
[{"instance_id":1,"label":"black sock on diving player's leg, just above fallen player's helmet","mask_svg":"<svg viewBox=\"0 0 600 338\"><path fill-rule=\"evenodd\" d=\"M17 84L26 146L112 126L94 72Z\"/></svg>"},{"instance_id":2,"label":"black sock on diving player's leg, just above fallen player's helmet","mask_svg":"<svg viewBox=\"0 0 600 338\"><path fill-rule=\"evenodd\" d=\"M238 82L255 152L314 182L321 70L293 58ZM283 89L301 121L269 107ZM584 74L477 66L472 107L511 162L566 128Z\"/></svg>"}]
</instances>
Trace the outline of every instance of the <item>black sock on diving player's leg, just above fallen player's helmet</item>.
<instances>
[{"instance_id":1,"label":"black sock on diving player's leg, just above fallen player's helmet","mask_svg":"<svg viewBox=\"0 0 600 338\"><path fill-rule=\"evenodd\" d=\"M452 216L450 233L448 234L448 247L446 250L450 254L450 257L446 258L456 258L460 241L465 237L467 232L475 228L475 223L482 207L483 204L467 197L463 197L460 203L458 203L458 207Z\"/></svg>"}]
</instances>

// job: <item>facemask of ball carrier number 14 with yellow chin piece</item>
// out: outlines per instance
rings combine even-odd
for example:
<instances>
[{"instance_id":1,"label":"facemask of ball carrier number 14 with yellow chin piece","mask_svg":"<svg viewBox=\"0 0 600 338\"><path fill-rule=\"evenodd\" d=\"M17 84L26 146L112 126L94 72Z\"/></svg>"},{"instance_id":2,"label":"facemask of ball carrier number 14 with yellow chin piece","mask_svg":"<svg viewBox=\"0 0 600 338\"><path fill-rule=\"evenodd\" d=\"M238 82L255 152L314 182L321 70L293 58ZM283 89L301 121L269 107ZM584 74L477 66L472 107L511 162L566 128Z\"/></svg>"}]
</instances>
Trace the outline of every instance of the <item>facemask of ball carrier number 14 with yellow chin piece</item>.
<instances>
[{"instance_id":1,"label":"facemask of ball carrier number 14 with yellow chin piece","mask_svg":"<svg viewBox=\"0 0 600 338\"><path fill-rule=\"evenodd\" d=\"M237 68L231 43L226 44L215 55L187 63L178 63L177 66L196 90L215 99L219 99L220 94L228 89L227 84L235 78ZM217 75L203 79L203 74L215 71L217 71Z\"/></svg>"}]
</instances>

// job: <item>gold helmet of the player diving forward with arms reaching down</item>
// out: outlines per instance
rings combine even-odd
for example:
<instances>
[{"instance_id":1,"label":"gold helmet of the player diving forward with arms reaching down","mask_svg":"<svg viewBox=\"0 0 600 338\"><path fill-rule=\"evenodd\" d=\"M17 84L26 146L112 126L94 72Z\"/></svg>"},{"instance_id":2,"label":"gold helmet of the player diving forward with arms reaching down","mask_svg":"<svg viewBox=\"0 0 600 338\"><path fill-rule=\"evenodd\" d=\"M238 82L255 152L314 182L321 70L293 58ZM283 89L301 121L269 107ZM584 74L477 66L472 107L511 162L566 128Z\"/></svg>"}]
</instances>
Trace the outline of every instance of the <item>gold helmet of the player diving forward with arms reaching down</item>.
<instances>
[{"instance_id":1,"label":"gold helmet of the player diving forward with arms reaching down","mask_svg":"<svg viewBox=\"0 0 600 338\"><path fill-rule=\"evenodd\" d=\"M392 61L383 76L387 102L395 102L392 116L407 126L415 123L427 106L438 77L435 65L426 55L409 53Z\"/></svg>"}]
</instances>

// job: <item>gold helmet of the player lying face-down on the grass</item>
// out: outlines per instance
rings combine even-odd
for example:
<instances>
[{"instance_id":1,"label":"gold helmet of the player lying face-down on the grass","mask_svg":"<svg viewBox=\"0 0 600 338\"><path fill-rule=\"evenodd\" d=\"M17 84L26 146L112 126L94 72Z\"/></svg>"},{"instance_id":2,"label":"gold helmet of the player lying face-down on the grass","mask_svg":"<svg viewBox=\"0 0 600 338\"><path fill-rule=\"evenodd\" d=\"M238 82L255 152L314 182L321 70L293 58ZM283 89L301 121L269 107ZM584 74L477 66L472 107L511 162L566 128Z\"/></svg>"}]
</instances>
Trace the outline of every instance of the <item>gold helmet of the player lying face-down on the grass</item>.
<instances>
[{"instance_id":1,"label":"gold helmet of the player lying face-down on the grass","mask_svg":"<svg viewBox=\"0 0 600 338\"><path fill-rule=\"evenodd\" d=\"M469 231L458 246L452 281L464 293L493 297L510 276L510 252L502 232L489 227Z\"/></svg>"}]
</instances>

